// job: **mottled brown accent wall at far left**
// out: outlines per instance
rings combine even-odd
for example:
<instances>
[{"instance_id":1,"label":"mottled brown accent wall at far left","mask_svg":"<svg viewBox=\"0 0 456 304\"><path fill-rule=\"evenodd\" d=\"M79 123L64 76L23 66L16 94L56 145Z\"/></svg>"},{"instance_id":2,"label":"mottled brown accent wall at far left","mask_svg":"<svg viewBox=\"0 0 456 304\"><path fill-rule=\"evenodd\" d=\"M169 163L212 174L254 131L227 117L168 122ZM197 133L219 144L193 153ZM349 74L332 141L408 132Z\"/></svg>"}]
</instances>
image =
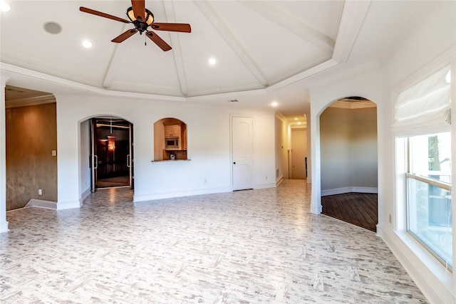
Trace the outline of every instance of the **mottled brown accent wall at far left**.
<instances>
[{"instance_id":1,"label":"mottled brown accent wall at far left","mask_svg":"<svg viewBox=\"0 0 456 304\"><path fill-rule=\"evenodd\" d=\"M56 103L6 109L6 210L57 201ZM38 195L42 189L42 195Z\"/></svg>"}]
</instances>

